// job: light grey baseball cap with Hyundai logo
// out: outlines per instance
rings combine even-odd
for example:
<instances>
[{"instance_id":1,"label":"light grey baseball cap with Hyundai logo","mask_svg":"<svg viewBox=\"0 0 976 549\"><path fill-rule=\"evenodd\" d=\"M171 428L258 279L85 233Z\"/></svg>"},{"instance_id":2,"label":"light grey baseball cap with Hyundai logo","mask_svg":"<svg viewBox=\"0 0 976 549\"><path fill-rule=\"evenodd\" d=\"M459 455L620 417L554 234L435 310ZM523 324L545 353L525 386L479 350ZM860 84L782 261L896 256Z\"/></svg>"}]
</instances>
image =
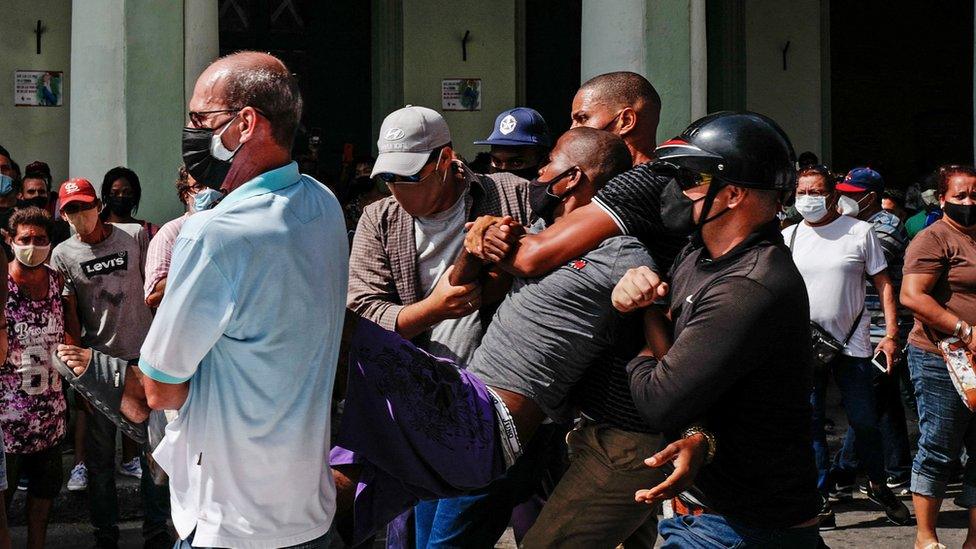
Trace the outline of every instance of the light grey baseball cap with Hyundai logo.
<instances>
[{"instance_id":1,"label":"light grey baseball cap with Hyundai logo","mask_svg":"<svg viewBox=\"0 0 976 549\"><path fill-rule=\"evenodd\" d=\"M379 173L414 175L427 163L431 151L450 142L451 130L437 111L413 105L393 111L380 126L379 155L370 177Z\"/></svg>"}]
</instances>

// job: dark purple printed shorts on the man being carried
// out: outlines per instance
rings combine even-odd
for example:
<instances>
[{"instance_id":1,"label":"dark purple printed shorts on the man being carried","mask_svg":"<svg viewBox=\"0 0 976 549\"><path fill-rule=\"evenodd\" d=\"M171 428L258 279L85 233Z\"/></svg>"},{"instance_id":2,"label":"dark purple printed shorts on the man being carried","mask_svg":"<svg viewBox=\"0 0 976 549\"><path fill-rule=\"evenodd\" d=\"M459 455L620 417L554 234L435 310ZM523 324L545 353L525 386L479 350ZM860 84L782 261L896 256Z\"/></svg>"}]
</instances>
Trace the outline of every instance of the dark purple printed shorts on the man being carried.
<instances>
[{"instance_id":1,"label":"dark purple printed shorts on the man being carried","mask_svg":"<svg viewBox=\"0 0 976 549\"><path fill-rule=\"evenodd\" d=\"M363 466L353 544L421 499L464 494L505 471L485 384L360 319L332 465Z\"/></svg>"}]
</instances>

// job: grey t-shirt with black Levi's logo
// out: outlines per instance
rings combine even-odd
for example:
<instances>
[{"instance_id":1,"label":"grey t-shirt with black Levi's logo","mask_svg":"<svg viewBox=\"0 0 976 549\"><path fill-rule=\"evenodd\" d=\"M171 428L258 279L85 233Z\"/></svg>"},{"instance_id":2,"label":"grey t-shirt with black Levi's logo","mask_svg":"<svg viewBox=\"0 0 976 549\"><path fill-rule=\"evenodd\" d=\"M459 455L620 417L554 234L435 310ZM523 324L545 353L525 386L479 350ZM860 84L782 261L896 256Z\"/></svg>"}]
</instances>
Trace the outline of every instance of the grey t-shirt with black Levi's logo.
<instances>
[{"instance_id":1,"label":"grey t-shirt with black Levi's logo","mask_svg":"<svg viewBox=\"0 0 976 549\"><path fill-rule=\"evenodd\" d=\"M51 266L64 275L64 295L77 299L82 344L133 360L152 322L142 290L149 238L133 223L109 227L111 234L98 244L78 235L58 244Z\"/></svg>"}]
</instances>

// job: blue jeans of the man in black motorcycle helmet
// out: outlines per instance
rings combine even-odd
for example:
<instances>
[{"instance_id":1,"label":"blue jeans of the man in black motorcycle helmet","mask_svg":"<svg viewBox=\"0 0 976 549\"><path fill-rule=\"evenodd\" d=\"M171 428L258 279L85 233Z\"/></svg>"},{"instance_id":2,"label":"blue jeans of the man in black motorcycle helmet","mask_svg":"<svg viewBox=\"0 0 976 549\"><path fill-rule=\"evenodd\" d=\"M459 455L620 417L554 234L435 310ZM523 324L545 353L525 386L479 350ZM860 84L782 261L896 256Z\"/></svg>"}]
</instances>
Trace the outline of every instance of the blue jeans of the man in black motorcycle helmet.
<instances>
[{"instance_id":1,"label":"blue jeans of the man in black motorcycle helmet","mask_svg":"<svg viewBox=\"0 0 976 549\"><path fill-rule=\"evenodd\" d=\"M658 523L662 549L821 547L816 525L805 528L754 528L722 515L677 515Z\"/></svg>"}]
</instances>

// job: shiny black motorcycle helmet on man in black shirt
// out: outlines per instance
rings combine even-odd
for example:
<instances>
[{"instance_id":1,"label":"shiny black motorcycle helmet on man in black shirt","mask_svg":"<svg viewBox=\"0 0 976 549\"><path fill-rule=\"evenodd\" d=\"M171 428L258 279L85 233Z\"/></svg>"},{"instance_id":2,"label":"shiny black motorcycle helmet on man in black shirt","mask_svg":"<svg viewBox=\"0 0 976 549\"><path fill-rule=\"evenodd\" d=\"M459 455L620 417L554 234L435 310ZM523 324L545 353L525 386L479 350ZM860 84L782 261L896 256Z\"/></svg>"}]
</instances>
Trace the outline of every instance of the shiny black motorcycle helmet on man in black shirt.
<instances>
[{"instance_id":1,"label":"shiny black motorcycle helmet on man in black shirt","mask_svg":"<svg viewBox=\"0 0 976 549\"><path fill-rule=\"evenodd\" d=\"M754 112L722 111L692 122L655 151L660 161L753 189L796 188L796 155L772 119Z\"/></svg>"}]
</instances>

